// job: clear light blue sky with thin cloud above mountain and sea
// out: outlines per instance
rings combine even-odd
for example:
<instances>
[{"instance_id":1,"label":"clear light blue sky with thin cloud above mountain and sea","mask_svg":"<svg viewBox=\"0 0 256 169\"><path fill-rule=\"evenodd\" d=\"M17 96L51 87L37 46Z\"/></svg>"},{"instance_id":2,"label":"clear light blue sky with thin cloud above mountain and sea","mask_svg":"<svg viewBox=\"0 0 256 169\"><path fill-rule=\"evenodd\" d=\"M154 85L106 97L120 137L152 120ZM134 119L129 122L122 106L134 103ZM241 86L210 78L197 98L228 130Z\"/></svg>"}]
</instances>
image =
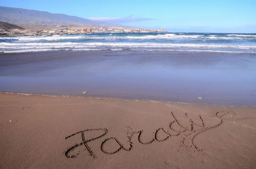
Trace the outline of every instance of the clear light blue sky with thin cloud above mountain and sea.
<instances>
[{"instance_id":1,"label":"clear light blue sky with thin cloud above mountain and sea","mask_svg":"<svg viewBox=\"0 0 256 169\"><path fill-rule=\"evenodd\" d=\"M256 33L256 0L1 0L0 6L170 32Z\"/></svg>"}]
</instances>

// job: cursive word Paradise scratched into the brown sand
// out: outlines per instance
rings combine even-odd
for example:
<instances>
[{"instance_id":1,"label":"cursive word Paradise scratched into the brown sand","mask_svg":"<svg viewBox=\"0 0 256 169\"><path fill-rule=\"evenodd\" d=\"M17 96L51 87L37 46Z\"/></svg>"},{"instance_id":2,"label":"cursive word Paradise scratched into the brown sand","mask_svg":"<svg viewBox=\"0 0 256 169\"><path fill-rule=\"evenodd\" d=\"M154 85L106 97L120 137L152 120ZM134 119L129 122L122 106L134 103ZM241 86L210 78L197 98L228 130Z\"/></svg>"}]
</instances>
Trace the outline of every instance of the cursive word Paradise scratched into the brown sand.
<instances>
[{"instance_id":1,"label":"cursive word Paradise scratched into the brown sand","mask_svg":"<svg viewBox=\"0 0 256 169\"><path fill-rule=\"evenodd\" d=\"M130 135L128 136L128 142L129 142L129 147L125 148L125 146L116 138L116 137L108 137L106 138L104 141L102 141L100 149L103 153L105 154L115 154L118 153L120 150L124 150L124 151L131 151L133 149L133 143L131 141L131 138L134 135L137 135L137 140L140 144L146 145L146 144L151 144L153 142L163 142L168 140L170 137L177 137L177 136L181 136L180 139L182 139L180 142L183 144L183 146L185 145L185 141L189 141L190 142L190 147L196 149L197 151L201 151L202 149L200 149L194 142L195 137L197 137L200 133L205 132L209 129L213 129L216 128L218 126L220 126L223 123L223 116L227 115L229 112L217 112L215 114L215 116L208 116L208 115L199 115L200 124L197 124L195 122L193 122L192 119L189 119L189 128L183 126L180 121L175 117L174 112L171 112L172 117L175 119L173 120L171 123L169 123L168 128L170 129L170 131L175 132L175 134L171 134L169 131L166 131L163 128L159 128L156 129L154 132L154 138L152 138L152 140L144 143L141 139L142 135L143 135L143 130L137 131L137 132L131 132ZM187 114L185 114L187 116ZM202 119L202 116L208 116L208 117L214 117L216 119L218 119L218 123L216 123L215 125L212 126L208 126L206 127L204 120ZM180 130L181 129L181 130ZM85 138L84 133L86 132L93 132L93 131L102 131L103 134L102 135L98 135L97 137L94 138ZM166 137L160 139L158 137L159 132L161 133L165 133ZM73 137L74 135L81 135L81 142L80 143L76 143L75 145L71 146L69 149L67 149L67 151L65 152L65 155L67 158L76 158L77 155L70 155L70 152L73 152L75 149L77 149L79 146L84 146L85 147L85 151L87 151L89 153L89 155L93 158L96 158L96 155L93 153L93 150L88 146L88 143L97 140L99 138L105 137L108 134L108 129L86 129L80 132L76 132L73 135L67 136L65 139L69 139L71 137ZM109 141L114 141L116 142L117 145L117 149L115 151L112 152L108 152L106 150L106 143Z\"/></svg>"}]
</instances>

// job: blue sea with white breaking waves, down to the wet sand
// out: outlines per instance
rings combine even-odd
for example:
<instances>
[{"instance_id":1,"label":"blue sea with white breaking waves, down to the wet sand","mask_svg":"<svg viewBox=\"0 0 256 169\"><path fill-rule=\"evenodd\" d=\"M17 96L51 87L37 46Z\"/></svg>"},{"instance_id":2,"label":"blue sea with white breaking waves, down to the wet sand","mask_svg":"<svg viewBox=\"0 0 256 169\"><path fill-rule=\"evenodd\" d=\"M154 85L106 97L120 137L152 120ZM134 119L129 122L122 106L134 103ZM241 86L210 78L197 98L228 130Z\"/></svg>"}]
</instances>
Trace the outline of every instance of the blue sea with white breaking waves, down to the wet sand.
<instances>
[{"instance_id":1,"label":"blue sea with white breaking waves, down to the wet sand","mask_svg":"<svg viewBox=\"0 0 256 169\"><path fill-rule=\"evenodd\" d=\"M172 51L256 53L256 34L227 33L105 33L0 37L4 53L42 51Z\"/></svg>"}]
</instances>

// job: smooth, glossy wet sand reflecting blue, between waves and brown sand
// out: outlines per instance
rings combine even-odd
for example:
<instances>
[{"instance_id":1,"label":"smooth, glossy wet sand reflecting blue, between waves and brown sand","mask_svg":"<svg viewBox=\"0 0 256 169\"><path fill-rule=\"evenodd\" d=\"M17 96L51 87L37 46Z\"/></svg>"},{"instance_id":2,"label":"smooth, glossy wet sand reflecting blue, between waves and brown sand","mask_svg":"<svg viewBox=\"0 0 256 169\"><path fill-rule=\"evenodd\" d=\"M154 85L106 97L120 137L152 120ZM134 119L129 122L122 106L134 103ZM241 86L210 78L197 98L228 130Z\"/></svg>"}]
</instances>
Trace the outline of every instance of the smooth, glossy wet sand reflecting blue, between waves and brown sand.
<instances>
[{"instance_id":1,"label":"smooth, glossy wet sand reflecting blue, between waves and brown sand","mask_svg":"<svg viewBox=\"0 0 256 169\"><path fill-rule=\"evenodd\" d=\"M0 58L2 92L256 106L255 54L107 50Z\"/></svg>"}]
</instances>

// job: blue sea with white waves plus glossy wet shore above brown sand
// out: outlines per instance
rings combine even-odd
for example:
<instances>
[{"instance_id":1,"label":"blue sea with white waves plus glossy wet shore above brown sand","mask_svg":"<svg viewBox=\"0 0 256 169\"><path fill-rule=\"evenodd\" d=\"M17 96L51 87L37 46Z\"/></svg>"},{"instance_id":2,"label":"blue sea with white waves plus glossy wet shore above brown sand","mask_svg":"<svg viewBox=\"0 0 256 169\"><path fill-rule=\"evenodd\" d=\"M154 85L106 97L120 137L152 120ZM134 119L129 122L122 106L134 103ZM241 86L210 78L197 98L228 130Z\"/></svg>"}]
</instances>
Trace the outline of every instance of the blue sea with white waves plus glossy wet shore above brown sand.
<instances>
[{"instance_id":1,"label":"blue sea with white waves plus glossy wet shore above brown sand","mask_svg":"<svg viewBox=\"0 0 256 169\"><path fill-rule=\"evenodd\" d=\"M256 34L1 37L0 51L0 92L256 106Z\"/></svg>"}]
</instances>

